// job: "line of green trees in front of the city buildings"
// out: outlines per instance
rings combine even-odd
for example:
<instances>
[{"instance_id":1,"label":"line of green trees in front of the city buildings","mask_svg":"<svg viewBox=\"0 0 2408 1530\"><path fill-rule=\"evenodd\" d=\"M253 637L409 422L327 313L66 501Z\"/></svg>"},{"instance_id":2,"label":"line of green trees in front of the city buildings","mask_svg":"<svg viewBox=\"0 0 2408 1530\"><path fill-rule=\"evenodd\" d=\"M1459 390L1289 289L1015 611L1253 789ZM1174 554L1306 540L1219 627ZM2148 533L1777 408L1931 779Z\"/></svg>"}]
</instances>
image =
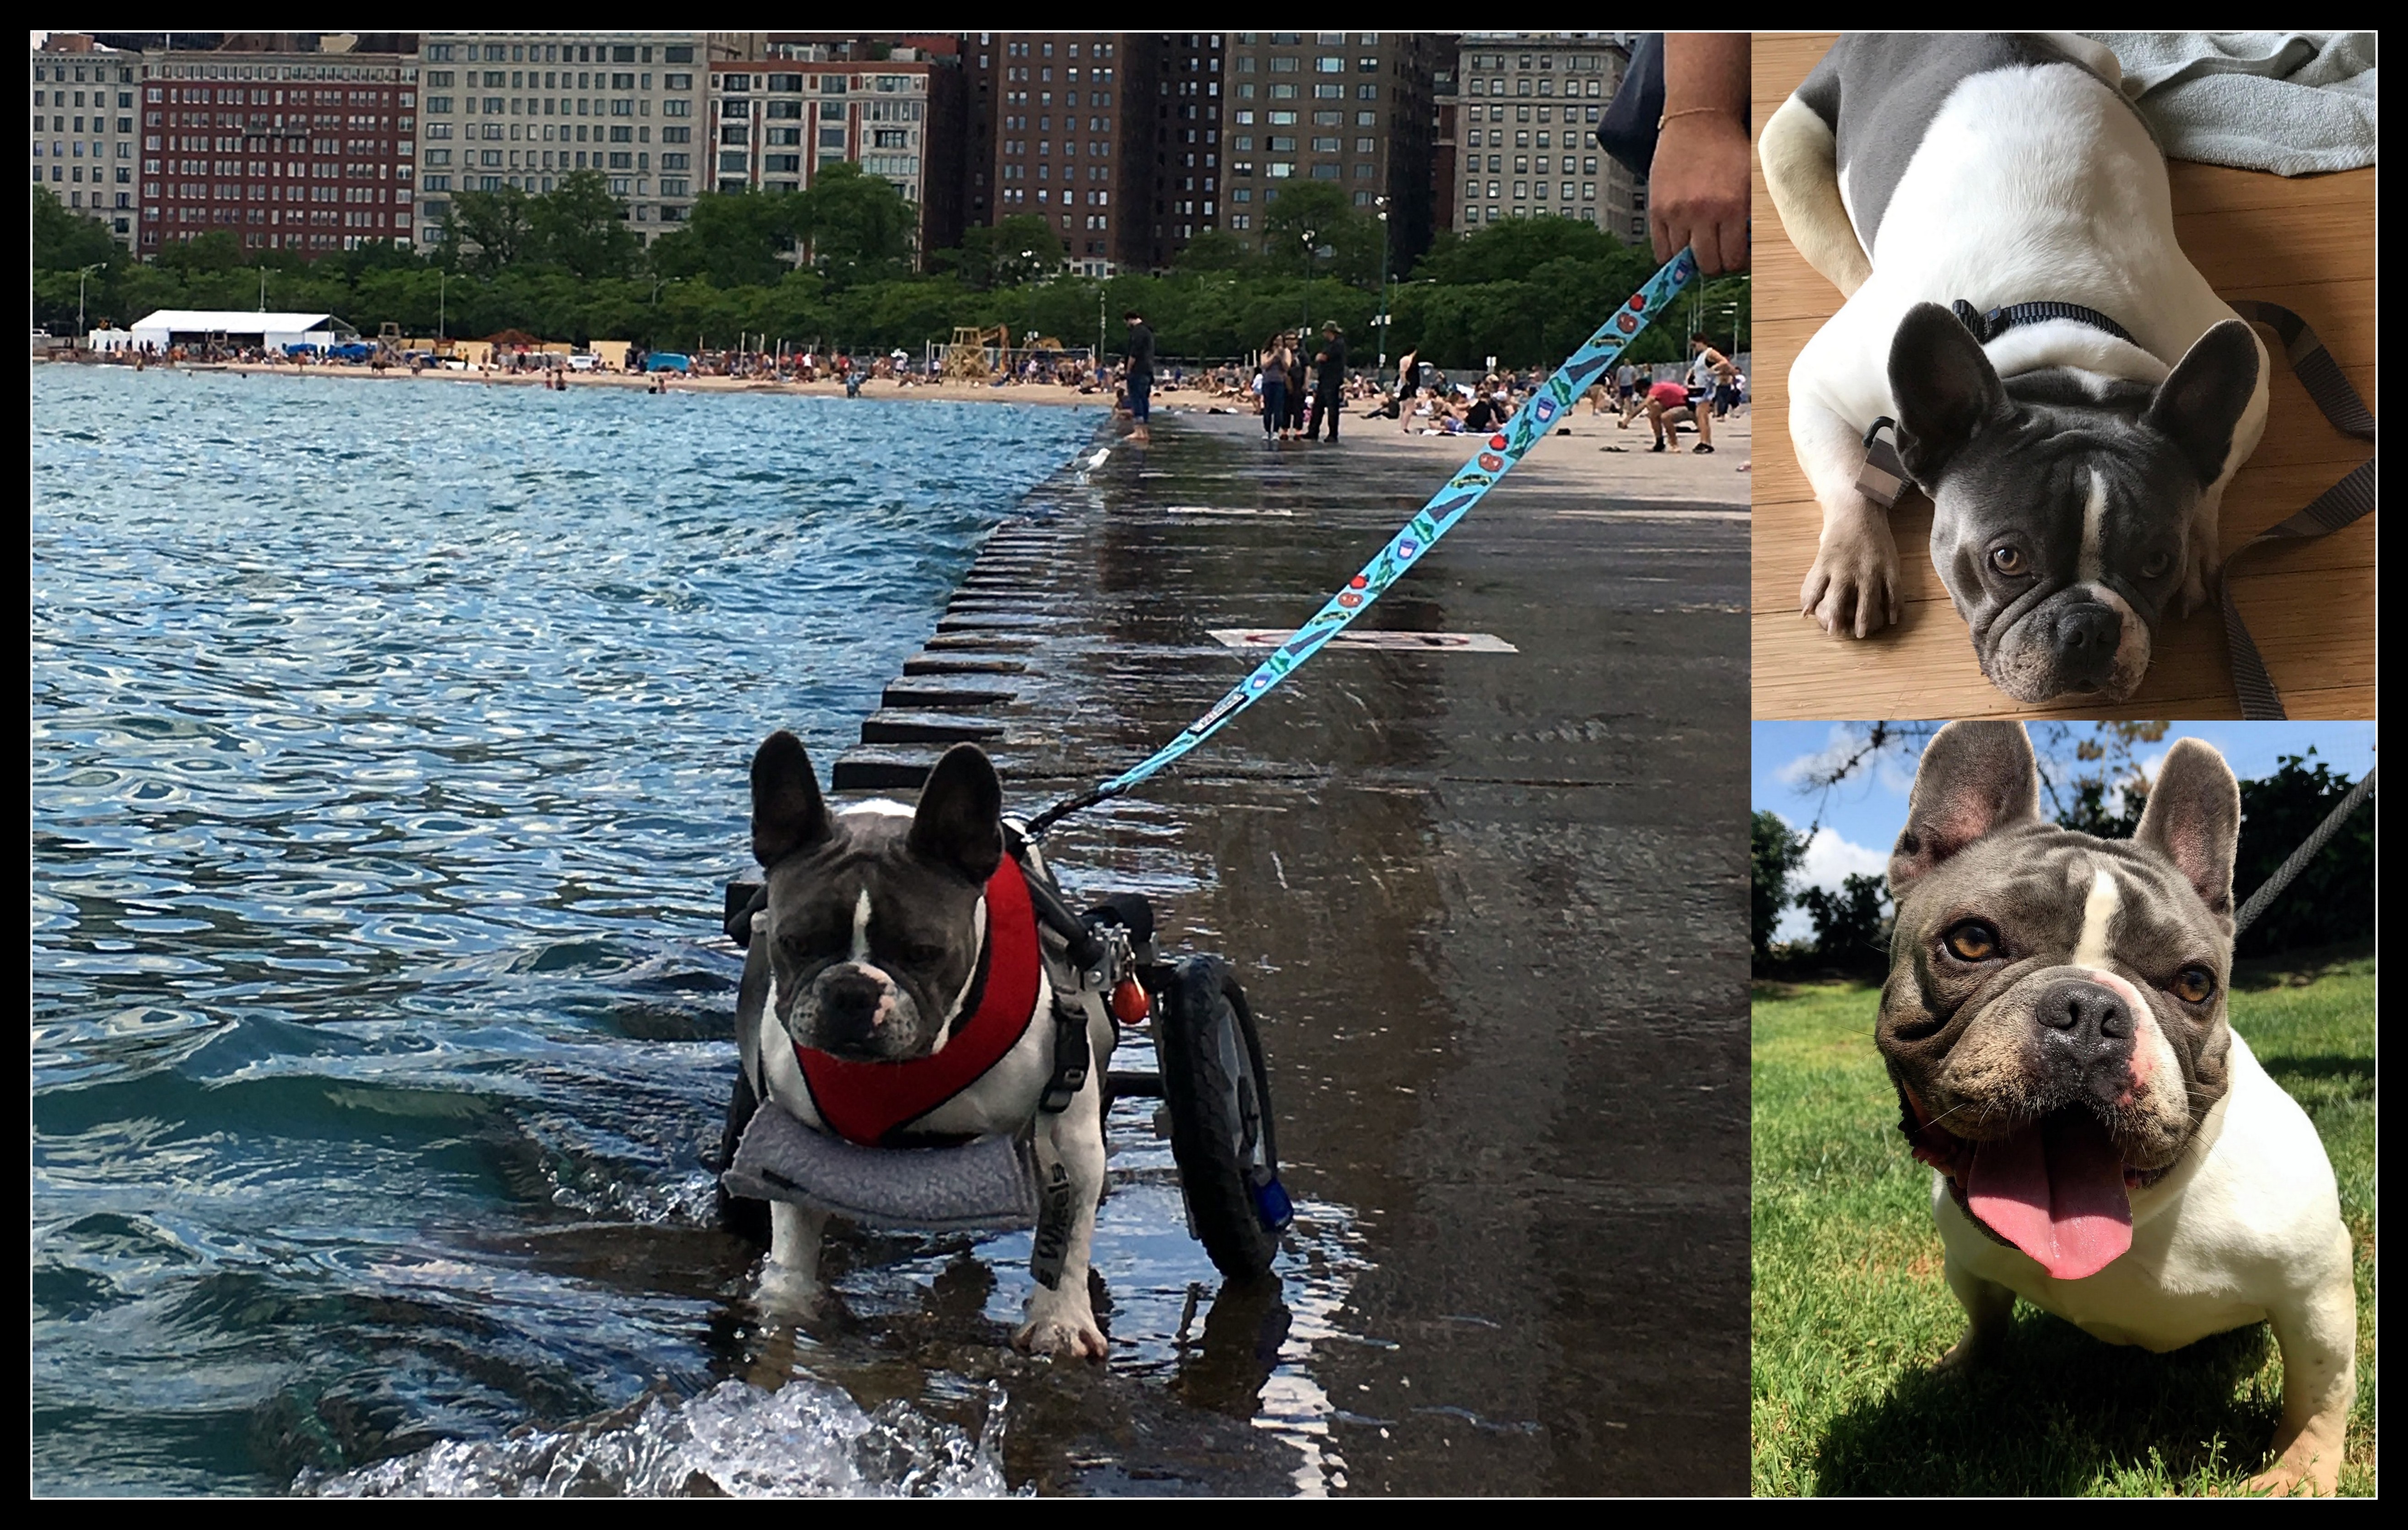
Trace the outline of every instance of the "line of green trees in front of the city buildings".
<instances>
[{"instance_id":1,"label":"line of green trees in front of the city buildings","mask_svg":"<svg viewBox=\"0 0 2408 1530\"><path fill-rule=\"evenodd\" d=\"M1324 186L1281 190L1259 246L1197 239L1165 275L1067 275L1060 236L1040 217L970 229L961 248L915 270L917 210L886 181L833 164L799 195L703 195L677 231L645 248L600 173L559 190L460 193L450 239L431 255L371 246L318 260L246 251L231 231L135 260L92 219L34 193L34 320L75 325L87 267L87 323L130 325L154 308L325 311L376 333L453 337L525 330L551 340L633 340L655 349L742 342L920 354L956 325L1007 325L1079 347L1122 345L1120 313L1139 308L1165 357L1235 357L1269 335L1334 318L1353 354L1389 361L1418 349L1450 371L1553 366L1654 272L1654 258L1577 219L1517 219L1447 236L1411 270L1380 270L1380 224ZM1690 323L1746 349L1748 282L1683 296L1671 320L1633 347L1671 361Z\"/></svg>"}]
</instances>

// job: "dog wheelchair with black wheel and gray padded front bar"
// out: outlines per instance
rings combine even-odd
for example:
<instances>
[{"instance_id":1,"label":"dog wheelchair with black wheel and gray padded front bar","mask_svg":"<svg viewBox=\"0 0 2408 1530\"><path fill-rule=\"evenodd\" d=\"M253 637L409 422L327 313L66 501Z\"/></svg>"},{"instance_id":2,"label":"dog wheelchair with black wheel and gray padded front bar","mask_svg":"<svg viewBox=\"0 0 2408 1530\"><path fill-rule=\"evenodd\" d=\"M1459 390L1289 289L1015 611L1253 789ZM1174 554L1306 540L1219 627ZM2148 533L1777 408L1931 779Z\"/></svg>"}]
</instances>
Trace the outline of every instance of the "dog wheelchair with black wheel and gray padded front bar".
<instances>
[{"instance_id":1,"label":"dog wheelchair with black wheel and gray padded front bar","mask_svg":"<svg viewBox=\"0 0 2408 1530\"><path fill-rule=\"evenodd\" d=\"M1076 913L1043 860L1016 836L1040 928L1050 935L1045 971L1057 1010L1081 995L1103 998L1117 1034L1149 1029L1158 1072L1112 1070L1105 1060L1103 1113L1120 1101L1158 1099L1156 1130L1170 1140L1187 1207L1187 1231L1230 1279L1269 1272L1279 1236L1293 1219L1279 1183L1279 1142L1269 1070L1255 1012L1221 957L1156 954L1153 904L1112 894ZM739 988L739 1048L746 995L768 985L768 942L754 942L754 916L768 906L761 882L730 882L725 930L746 952ZM1064 988L1074 993L1064 995ZM759 1010L751 1010L759 1014ZM1043 1017L1035 1022L1043 1024ZM1086 1024L1055 1031L1052 1084L1040 1108L1060 1111L1096 1065ZM720 1135L720 1219L730 1231L768 1241L768 1200L792 1200L862 1226L903 1231L1009 1231L1038 1224L1031 1132L970 1142L860 1147L804 1128L759 1099L749 1067L737 1067ZM1043 1251L1038 1251L1043 1260Z\"/></svg>"}]
</instances>

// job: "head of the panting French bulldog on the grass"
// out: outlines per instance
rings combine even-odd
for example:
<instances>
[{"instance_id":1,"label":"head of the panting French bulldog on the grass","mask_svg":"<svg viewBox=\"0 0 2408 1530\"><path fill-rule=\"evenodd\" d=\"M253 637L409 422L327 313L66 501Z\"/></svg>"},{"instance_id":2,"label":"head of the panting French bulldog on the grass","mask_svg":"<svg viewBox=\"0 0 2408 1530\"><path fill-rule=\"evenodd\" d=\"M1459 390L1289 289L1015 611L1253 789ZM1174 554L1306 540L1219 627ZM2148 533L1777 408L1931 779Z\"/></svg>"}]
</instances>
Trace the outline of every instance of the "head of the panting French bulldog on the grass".
<instances>
[{"instance_id":1,"label":"head of the panting French bulldog on the grass","mask_svg":"<svg viewBox=\"0 0 2408 1530\"><path fill-rule=\"evenodd\" d=\"M1876 1041L1914 1157L2056 1279L2131 1246L2225 1094L2239 788L2182 740L2129 841L2040 819L2015 723L1931 740L1890 858Z\"/></svg>"}]
</instances>

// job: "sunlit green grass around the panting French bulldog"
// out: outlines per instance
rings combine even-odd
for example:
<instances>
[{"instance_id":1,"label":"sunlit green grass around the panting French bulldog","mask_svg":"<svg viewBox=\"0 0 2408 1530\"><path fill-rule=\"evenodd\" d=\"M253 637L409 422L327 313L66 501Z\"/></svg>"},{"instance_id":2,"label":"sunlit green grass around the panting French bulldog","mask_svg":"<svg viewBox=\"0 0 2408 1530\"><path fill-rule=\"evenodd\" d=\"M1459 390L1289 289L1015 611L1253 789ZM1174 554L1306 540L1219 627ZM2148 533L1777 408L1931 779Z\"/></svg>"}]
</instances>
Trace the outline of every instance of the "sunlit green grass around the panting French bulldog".
<instances>
[{"instance_id":1,"label":"sunlit green grass around the panting French bulldog","mask_svg":"<svg viewBox=\"0 0 2408 1530\"><path fill-rule=\"evenodd\" d=\"M2304 1108L2357 1243L2357 1407L2343 1494L2374 1491L2374 957L2237 971L2232 1026ZM2266 1467L2283 1361L2266 1325L2174 1354L2028 1304L1996 1364L1931 1376L1965 1316L1931 1173L1873 1051L1878 990L1753 1002L1753 1489L1758 1494L2235 1494Z\"/></svg>"}]
</instances>

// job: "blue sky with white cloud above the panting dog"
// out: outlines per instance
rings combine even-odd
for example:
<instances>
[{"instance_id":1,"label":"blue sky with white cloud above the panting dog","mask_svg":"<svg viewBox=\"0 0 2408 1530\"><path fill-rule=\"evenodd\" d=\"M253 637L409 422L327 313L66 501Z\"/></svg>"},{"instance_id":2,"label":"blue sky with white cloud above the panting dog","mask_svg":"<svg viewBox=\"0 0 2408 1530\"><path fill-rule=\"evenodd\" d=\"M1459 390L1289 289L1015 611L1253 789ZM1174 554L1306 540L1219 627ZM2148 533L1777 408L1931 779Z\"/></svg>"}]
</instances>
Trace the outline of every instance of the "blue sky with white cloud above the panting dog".
<instances>
[{"instance_id":1,"label":"blue sky with white cloud above the panting dog","mask_svg":"<svg viewBox=\"0 0 2408 1530\"><path fill-rule=\"evenodd\" d=\"M1890 863L1890 841L1907 819L1907 788L1914 785L1914 757L1898 749L1859 769L1859 776L1828 798L1801 793L1794 776L1835 742L1861 737L1861 723L1755 723L1748 807L1782 814L1792 829L1804 829L1820 814L1820 831L1806 851L1806 865L1792 887L1837 887L1849 872L1878 875ZM2232 773L2249 781L2268 776L2283 754L2307 754L2357 781L2374 764L2374 723L2174 723L2165 740L2141 747L2143 771L2155 773L2165 749L2177 737L2215 745ZM1801 940L1813 932L1801 908L1787 908L1775 940Z\"/></svg>"}]
</instances>

